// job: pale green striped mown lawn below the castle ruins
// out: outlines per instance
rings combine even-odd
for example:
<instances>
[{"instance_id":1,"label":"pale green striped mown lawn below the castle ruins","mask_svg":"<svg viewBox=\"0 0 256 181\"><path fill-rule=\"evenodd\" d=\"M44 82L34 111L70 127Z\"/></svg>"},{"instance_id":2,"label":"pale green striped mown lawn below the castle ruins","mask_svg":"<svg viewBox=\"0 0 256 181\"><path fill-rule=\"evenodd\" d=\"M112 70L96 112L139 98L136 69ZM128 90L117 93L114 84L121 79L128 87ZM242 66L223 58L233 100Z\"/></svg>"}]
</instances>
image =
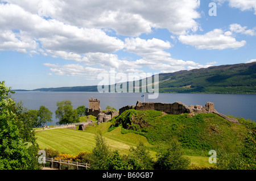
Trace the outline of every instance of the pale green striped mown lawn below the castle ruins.
<instances>
[{"instance_id":1,"label":"pale green striped mown lawn below the castle ruins","mask_svg":"<svg viewBox=\"0 0 256 181\"><path fill-rule=\"evenodd\" d=\"M150 150L151 156L155 157L151 144L148 143L146 137L135 133L121 133L121 127L108 132L108 128L112 123L101 123L96 127L88 126L85 131L77 131L73 129L49 129L45 131L37 131L37 142L41 149L52 148L62 153L76 155L79 151L92 151L95 146L94 136L97 131L101 131L106 142L113 150L118 150L121 154L129 154L130 146L136 146L139 141ZM201 166L211 166L208 163L208 157L188 156L191 163Z\"/></svg>"}]
</instances>

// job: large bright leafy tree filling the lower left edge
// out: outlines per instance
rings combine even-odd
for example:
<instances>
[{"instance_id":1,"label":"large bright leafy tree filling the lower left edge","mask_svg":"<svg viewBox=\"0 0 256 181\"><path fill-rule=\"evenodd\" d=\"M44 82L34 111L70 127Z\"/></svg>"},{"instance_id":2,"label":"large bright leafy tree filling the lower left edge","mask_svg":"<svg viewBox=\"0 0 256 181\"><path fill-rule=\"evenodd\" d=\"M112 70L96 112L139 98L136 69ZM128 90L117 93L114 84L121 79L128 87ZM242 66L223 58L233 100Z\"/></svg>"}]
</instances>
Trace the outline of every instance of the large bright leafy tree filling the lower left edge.
<instances>
[{"instance_id":1,"label":"large bright leafy tree filling the lower left edge","mask_svg":"<svg viewBox=\"0 0 256 181\"><path fill-rule=\"evenodd\" d=\"M10 97L0 82L0 169L39 169L39 147L26 109Z\"/></svg>"}]
</instances>

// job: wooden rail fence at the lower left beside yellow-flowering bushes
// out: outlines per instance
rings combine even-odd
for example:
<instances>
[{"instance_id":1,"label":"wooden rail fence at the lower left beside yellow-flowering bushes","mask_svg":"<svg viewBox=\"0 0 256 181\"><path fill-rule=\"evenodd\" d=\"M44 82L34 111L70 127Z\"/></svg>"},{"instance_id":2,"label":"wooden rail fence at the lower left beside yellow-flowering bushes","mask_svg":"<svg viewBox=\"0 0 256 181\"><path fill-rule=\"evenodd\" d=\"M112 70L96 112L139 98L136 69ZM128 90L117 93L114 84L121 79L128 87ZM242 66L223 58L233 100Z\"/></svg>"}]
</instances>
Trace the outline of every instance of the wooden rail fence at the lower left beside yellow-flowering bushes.
<instances>
[{"instance_id":1,"label":"wooden rail fence at the lower left beside yellow-flowering bushes","mask_svg":"<svg viewBox=\"0 0 256 181\"><path fill-rule=\"evenodd\" d=\"M54 166L55 164L54 163L57 163L57 168L59 170L61 170L61 164L63 165L67 165L68 166L68 170L71 169L71 166L77 170L79 170L79 167L82 167L82 168L85 168L86 170L88 168L90 168L87 164L87 163L79 163L79 162L72 162L72 161L65 161L63 159L53 159L53 158L45 158L45 161L46 162L49 162L50 165L51 165L51 169L53 169L53 167L56 167ZM45 165L46 163L44 163Z\"/></svg>"}]
</instances>

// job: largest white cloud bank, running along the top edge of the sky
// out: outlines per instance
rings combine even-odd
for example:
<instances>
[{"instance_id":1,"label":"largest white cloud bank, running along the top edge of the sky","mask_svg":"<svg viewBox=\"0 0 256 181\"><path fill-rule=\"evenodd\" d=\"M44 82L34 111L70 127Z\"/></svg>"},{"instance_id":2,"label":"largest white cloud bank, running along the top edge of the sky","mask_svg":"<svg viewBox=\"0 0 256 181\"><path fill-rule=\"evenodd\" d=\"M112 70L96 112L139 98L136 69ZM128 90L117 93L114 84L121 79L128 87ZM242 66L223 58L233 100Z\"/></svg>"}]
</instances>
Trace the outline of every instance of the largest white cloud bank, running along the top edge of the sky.
<instances>
[{"instance_id":1,"label":"largest white cloud bank, running along the top edge of the sky","mask_svg":"<svg viewBox=\"0 0 256 181\"><path fill-rule=\"evenodd\" d=\"M149 33L152 27L167 28L176 34L195 31L199 26L195 19L200 18L198 0L6 1L31 14L45 14L72 26L112 28L126 36Z\"/></svg>"}]
</instances>

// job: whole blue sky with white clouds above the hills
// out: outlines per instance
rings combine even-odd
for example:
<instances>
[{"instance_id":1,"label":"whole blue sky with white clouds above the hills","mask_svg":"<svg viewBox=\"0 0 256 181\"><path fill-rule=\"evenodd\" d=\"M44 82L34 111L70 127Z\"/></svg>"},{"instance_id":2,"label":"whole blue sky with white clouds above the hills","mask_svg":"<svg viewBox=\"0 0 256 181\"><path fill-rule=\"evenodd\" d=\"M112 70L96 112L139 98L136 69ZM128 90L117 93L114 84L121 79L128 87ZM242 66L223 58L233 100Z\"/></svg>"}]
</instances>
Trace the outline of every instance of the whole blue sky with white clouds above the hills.
<instances>
[{"instance_id":1,"label":"whole blue sky with white clouds above the hills","mask_svg":"<svg viewBox=\"0 0 256 181\"><path fill-rule=\"evenodd\" d=\"M248 63L255 48L256 0L0 0L0 81L13 89Z\"/></svg>"}]
</instances>

